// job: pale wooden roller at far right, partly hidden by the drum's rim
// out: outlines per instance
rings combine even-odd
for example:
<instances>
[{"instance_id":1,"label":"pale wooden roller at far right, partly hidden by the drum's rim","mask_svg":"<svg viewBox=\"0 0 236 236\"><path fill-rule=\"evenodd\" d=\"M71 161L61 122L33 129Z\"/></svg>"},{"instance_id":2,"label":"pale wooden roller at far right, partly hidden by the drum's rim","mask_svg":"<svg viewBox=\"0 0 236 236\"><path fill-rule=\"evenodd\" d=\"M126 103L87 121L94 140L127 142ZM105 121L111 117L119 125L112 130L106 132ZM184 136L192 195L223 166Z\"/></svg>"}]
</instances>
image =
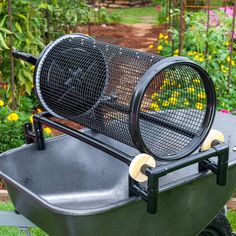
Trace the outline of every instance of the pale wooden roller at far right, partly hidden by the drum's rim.
<instances>
[{"instance_id":1,"label":"pale wooden roller at far right, partly hidden by the drum's rim","mask_svg":"<svg viewBox=\"0 0 236 236\"><path fill-rule=\"evenodd\" d=\"M207 135L205 141L201 145L201 151L206 151L213 146L213 142L218 141L218 142L224 142L225 137L222 132L216 129L211 129L209 134Z\"/></svg>"}]
</instances>

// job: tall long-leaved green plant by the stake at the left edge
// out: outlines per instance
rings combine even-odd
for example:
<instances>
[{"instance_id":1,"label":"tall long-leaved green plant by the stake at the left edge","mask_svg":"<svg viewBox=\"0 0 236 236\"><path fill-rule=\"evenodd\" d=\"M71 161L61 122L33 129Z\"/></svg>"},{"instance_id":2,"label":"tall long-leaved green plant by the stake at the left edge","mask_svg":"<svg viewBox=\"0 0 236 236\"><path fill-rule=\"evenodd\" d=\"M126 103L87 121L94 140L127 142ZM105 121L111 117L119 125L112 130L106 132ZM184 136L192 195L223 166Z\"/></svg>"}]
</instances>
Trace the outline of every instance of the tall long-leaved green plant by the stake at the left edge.
<instances>
[{"instance_id":1,"label":"tall long-leaved green plant by the stake at the left edge","mask_svg":"<svg viewBox=\"0 0 236 236\"><path fill-rule=\"evenodd\" d=\"M12 99L11 83L10 83L10 62L9 62L9 35L13 34L14 48L24 52L30 52L38 55L44 44L41 39L42 32L45 30L45 21L42 17L37 17L42 14L38 8L38 1L14 1L12 6L13 12L13 32L7 30L9 28L9 19L7 12L7 1L4 0L0 9L0 27L2 27L1 37L3 42L1 52L1 74L2 81L7 83L6 98L9 103ZM32 92L32 71L33 67L23 61L15 61L15 87L16 96L19 98L22 95L30 95Z\"/></svg>"}]
</instances>

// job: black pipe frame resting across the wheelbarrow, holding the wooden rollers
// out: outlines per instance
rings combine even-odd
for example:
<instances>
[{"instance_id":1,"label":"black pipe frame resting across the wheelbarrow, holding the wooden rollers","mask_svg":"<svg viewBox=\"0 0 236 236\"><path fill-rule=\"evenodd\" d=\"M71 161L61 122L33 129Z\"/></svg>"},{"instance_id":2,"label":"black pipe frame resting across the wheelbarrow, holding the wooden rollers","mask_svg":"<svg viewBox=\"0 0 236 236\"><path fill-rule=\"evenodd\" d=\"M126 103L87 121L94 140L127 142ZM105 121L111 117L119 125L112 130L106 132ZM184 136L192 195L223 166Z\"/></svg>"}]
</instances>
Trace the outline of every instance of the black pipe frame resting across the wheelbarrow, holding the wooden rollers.
<instances>
[{"instance_id":1,"label":"black pipe frame resting across the wheelbarrow, holding the wooden rollers","mask_svg":"<svg viewBox=\"0 0 236 236\"><path fill-rule=\"evenodd\" d=\"M75 137L103 152L119 159L120 161L130 165L133 156L130 156L114 147L111 147L84 132L75 130L56 121L50 120L51 115L47 112L35 114L33 116L33 126L31 123L24 125L26 143L36 143L38 150L46 148L42 125L47 125L65 134ZM229 147L225 143L215 143L208 151L199 152L186 158L175 160L155 168L143 166L142 172L148 176L147 188L136 182L129 176L129 196L138 196L147 202L147 212L154 214L158 208L159 179L173 171L198 163L199 172L212 171L216 174L216 184L219 186L226 185L227 170L229 159ZM217 157L217 163L209 160L211 157Z\"/></svg>"}]
</instances>

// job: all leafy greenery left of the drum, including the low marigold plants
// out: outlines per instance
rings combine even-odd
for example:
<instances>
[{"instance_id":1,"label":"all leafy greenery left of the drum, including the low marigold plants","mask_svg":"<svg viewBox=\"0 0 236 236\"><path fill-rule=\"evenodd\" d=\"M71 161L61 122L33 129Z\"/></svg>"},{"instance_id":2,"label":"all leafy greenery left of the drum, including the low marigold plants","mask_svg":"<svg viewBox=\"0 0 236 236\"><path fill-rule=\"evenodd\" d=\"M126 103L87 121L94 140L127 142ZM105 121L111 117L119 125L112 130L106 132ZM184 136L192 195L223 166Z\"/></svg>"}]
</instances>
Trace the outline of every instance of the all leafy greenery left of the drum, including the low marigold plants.
<instances>
[{"instance_id":1,"label":"all leafy greenery left of the drum, including the low marigold plants","mask_svg":"<svg viewBox=\"0 0 236 236\"><path fill-rule=\"evenodd\" d=\"M10 31L8 6L8 0L0 2L0 152L24 143L23 124L38 108L33 93L34 66L22 60L14 60L13 94L10 37L14 48L38 56L51 40L70 33L78 23L87 23L89 17L89 8L81 0L14 0ZM12 114L17 119L9 120Z\"/></svg>"}]
</instances>

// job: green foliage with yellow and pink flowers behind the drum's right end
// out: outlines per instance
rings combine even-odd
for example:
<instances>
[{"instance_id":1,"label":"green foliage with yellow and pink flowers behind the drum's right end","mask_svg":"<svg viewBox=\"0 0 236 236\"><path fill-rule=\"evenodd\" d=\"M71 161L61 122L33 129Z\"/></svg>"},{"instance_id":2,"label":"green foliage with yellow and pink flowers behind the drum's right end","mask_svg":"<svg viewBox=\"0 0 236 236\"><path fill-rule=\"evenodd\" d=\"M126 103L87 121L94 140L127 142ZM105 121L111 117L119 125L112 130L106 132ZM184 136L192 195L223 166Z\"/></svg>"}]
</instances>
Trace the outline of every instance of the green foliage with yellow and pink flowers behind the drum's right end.
<instances>
[{"instance_id":1,"label":"green foliage with yellow and pink flowers behind the drum's right end","mask_svg":"<svg viewBox=\"0 0 236 236\"><path fill-rule=\"evenodd\" d=\"M236 108L236 53L230 59L230 29L232 18L223 11L210 12L210 27L207 32L205 12L191 12L186 16L184 47L181 55L187 56L205 68L216 87L218 109L233 110ZM174 56L178 56L179 31L172 29ZM206 49L207 45L207 49ZM172 43L159 36L158 53L172 55ZM234 45L235 47L235 45ZM228 87L229 64L232 64L230 87Z\"/></svg>"}]
</instances>

